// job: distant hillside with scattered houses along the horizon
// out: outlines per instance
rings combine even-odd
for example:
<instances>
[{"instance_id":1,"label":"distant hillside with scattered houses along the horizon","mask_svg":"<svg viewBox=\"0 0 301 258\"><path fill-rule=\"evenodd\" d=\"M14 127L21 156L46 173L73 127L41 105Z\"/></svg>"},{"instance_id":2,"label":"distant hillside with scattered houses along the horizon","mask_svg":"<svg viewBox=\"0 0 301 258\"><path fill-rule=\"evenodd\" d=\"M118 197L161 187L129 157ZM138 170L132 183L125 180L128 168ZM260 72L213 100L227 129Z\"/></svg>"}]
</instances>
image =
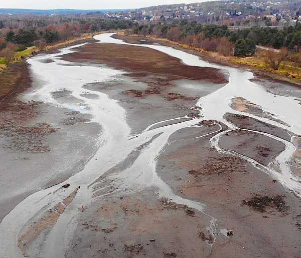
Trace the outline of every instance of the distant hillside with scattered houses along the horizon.
<instances>
[{"instance_id":1,"label":"distant hillside with scattered houses along the horizon","mask_svg":"<svg viewBox=\"0 0 301 258\"><path fill-rule=\"evenodd\" d=\"M0 16L25 15L93 17L143 23L172 23L187 19L202 24L227 26L290 26L301 19L301 1L213 1L194 4L163 5L136 10L25 10L0 9Z\"/></svg>"}]
</instances>

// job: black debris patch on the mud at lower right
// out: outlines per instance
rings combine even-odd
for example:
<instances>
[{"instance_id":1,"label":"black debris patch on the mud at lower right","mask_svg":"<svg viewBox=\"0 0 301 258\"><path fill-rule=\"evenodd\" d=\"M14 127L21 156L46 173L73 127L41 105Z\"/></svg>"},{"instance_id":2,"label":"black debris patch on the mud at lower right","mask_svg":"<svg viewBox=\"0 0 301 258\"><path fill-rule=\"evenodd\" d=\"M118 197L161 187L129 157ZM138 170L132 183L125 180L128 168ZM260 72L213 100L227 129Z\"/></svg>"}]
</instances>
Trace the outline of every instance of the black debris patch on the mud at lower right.
<instances>
[{"instance_id":1,"label":"black debris patch on the mud at lower right","mask_svg":"<svg viewBox=\"0 0 301 258\"><path fill-rule=\"evenodd\" d=\"M242 201L242 205L247 205L251 209L256 211L265 212L267 207L277 209L278 211L284 211L288 209L283 196L277 195L275 197L259 196L255 195L250 200Z\"/></svg>"}]
</instances>

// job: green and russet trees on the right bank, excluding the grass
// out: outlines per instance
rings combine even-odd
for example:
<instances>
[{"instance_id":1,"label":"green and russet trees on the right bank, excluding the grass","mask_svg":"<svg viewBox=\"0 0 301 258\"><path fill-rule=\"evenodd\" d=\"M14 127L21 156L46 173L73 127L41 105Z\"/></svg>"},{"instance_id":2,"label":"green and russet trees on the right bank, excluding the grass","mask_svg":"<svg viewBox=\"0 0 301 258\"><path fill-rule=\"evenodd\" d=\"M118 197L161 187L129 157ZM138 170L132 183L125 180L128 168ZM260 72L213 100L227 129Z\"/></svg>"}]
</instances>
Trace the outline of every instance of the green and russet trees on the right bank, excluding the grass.
<instances>
[{"instance_id":1,"label":"green and russet trees on the right bank, excluding the grass","mask_svg":"<svg viewBox=\"0 0 301 258\"><path fill-rule=\"evenodd\" d=\"M131 32L143 36L167 38L192 47L219 52L224 56L252 56L256 45L275 49L285 47L298 52L301 45L301 24L299 23L294 27L283 28L281 31L270 27L229 30L226 25L202 25L195 21L177 20L172 24L134 24Z\"/></svg>"}]
</instances>

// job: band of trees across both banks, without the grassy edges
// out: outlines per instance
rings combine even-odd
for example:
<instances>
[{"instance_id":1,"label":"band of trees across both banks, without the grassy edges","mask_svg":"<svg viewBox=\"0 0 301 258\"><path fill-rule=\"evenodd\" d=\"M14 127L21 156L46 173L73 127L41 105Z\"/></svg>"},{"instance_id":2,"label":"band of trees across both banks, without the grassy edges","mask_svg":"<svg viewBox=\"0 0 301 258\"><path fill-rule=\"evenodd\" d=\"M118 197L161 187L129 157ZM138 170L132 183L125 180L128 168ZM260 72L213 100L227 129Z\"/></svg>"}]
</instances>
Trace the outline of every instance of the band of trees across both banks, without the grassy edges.
<instances>
[{"instance_id":1,"label":"band of trees across both banks, without the grassy edges","mask_svg":"<svg viewBox=\"0 0 301 258\"><path fill-rule=\"evenodd\" d=\"M271 51L268 55L264 54L266 62L269 62L269 66L273 69L278 69L280 63L274 62L275 64L272 64L273 58L271 56L277 53L278 56L281 56L279 57L280 62L284 59L295 60L301 49L300 23L285 27L283 30L271 27L229 30L226 25L204 25L188 20L175 20L173 23L138 24L126 20L57 16L44 20L37 17L32 20L25 18L20 20L6 19L0 20L0 25L2 27L0 28L0 51L6 53L7 56L12 56L15 51L24 50L24 46L35 45L43 49L46 44L67 41L79 37L82 33L118 29L142 36L152 35L157 38L167 38L191 47L219 53L224 57L253 56L256 45L280 49L278 52ZM268 51L262 50L261 52L267 53ZM289 52L298 54L288 55ZM280 55L280 53L282 54Z\"/></svg>"}]
</instances>

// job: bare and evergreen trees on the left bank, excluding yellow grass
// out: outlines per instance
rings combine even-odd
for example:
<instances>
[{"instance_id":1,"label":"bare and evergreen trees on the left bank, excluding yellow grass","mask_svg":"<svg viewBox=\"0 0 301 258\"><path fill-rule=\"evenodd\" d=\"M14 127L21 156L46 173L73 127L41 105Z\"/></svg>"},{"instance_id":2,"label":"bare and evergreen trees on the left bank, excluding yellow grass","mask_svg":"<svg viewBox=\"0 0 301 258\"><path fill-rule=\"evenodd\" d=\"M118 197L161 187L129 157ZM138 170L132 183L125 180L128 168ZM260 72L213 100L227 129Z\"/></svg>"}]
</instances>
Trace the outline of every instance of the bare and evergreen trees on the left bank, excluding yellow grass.
<instances>
[{"instance_id":1,"label":"bare and evergreen trees on the left bank, excluding yellow grass","mask_svg":"<svg viewBox=\"0 0 301 258\"><path fill-rule=\"evenodd\" d=\"M43 49L46 44L78 38L82 33L124 30L131 28L132 25L131 21L103 19L63 19L53 23L49 23L48 20L0 21L2 27L0 28L0 56L4 57L5 64L8 66L14 60L15 52L26 50L26 47L36 46Z\"/></svg>"}]
</instances>

